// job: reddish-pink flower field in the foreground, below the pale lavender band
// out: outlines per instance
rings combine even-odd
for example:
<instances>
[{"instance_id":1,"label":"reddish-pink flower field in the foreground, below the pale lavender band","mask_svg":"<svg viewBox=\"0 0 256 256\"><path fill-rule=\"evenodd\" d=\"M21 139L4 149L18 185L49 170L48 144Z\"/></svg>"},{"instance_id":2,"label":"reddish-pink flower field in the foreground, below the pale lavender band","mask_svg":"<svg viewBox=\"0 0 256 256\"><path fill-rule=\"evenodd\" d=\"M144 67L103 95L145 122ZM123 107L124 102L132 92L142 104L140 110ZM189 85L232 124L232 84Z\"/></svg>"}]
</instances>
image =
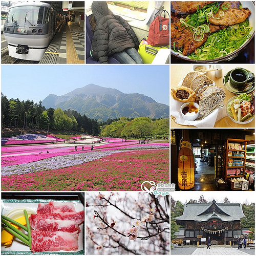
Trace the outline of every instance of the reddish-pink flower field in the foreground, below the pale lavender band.
<instances>
[{"instance_id":1,"label":"reddish-pink flower field in the foreground, below the pale lavender band","mask_svg":"<svg viewBox=\"0 0 256 256\"><path fill-rule=\"evenodd\" d=\"M2 190L141 190L143 181L169 182L169 150L116 153L71 167L2 177Z\"/></svg>"}]
</instances>

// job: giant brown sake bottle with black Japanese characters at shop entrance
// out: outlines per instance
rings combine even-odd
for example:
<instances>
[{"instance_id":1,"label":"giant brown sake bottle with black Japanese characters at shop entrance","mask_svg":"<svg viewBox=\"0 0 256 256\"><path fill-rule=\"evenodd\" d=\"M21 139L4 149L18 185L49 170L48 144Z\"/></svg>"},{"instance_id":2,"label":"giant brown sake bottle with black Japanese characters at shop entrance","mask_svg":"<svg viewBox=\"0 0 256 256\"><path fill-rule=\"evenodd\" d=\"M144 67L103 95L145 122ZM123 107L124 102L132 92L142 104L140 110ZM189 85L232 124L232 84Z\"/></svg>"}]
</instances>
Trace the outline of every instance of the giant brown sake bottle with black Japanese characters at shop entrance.
<instances>
[{"instance_id":1,"label":"giant brown sake bottle with black Japanese characters at shop entrance","mask_svg":"<svg viewBox=\"0 0 256 256\"><path fill-rule=\"evenodd\" d=\"M183 140L178 154L178 184L182 190L191 189L195 185L195 160L188 130L183 130Z\"/></svg>"}]
</instances>

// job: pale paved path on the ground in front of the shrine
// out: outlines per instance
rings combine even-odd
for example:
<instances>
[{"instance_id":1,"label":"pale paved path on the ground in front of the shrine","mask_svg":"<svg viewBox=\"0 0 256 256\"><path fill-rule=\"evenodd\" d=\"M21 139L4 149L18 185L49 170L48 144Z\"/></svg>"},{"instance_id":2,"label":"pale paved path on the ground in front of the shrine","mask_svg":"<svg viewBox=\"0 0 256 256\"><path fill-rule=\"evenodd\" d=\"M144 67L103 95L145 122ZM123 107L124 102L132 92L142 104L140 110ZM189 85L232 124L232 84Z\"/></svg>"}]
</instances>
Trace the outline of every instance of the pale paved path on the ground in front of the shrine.
<instances>
[{"instance_id":1,"label":"pale paved path on the ground in front of the shrine","mask_svg":"<svg viewBox=\"0 0 256 256\"><path fill-rule=\"evenodd\" d=\"M245 250L225 247L197 248L192 255L248 255Z\"/></svg>"}]
</instances>

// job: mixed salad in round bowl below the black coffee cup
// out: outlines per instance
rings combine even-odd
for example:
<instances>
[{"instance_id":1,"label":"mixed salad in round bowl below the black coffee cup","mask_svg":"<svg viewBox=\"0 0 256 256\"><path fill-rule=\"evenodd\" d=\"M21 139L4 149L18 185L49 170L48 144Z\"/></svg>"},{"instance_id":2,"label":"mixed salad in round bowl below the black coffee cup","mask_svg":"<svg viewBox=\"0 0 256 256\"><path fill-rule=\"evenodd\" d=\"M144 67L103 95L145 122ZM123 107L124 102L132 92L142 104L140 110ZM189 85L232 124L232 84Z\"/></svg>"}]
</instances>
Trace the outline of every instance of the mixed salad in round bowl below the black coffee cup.
<instances>
[{"instance_id":1,"label":"mixed salad in round bowl below the black coffee cup","mask_svg":"<svg viewBox=\"0 0 256 256\"><path fill-rule=\"evenodd\" d=\"M235 123L249 123L254 118L254 94L242 93L230 98L226 111L228 117Z\"/></svg>"}]
</instances>

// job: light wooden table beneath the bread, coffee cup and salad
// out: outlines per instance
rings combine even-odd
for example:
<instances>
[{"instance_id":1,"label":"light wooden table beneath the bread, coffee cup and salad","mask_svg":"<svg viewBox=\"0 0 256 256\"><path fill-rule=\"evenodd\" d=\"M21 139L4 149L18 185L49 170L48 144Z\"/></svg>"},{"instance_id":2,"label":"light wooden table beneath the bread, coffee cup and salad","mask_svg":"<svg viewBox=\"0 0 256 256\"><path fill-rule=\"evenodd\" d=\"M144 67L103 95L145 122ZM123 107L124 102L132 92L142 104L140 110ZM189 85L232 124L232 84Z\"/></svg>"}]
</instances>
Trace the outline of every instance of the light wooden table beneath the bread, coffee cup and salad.
<instances>
[{"instance_id":1,"label":"light wooden table beneath the bread, coffee cup and salad","mask_svg":"<svg viewBox=\"0 0 256 256\"><path fill-rule=\"evenodd\" d=\"M224 89L225 89L225 86L223 84L223 77L225 76L225 74L227 72L229 72L230 70L232 70L234 68L244 68L244 69L247 69L255 74L255 68L254 68L253 64L231 64L231 65L230 64L221 64L221 66L223 68L223 76L221 78L216 78L215 72L208 72L205 75L207 75L211 80L215 81L217 86L222 87ZM186 64L186 65L173 64L173 65L171 65L171 67L170 67L170 87L171 88L176 87L178 85L178 83L181 81L181 79L184 78L187 73L189 73L190 71L193 71L192 68L193 68L193 64ZM227 101L231 97L236 95L236 94L229 92L227 89L225 89L225 91L226 91L226 98L223 101L224 106L226 106ZM170 97L172 97L172 96L170 96ZM172 116L171 112L170 112L170 116ZM220 120L217 120L214 127L254 127L254 126L255 126L254 120L247 124L238 124L238 123L233 122L232 120L229 119L229 117L226 116ZM176 127L195 127L195 126L180 125L171 118L170 127L176 128Z\"/></svg>"}]
</instances>

